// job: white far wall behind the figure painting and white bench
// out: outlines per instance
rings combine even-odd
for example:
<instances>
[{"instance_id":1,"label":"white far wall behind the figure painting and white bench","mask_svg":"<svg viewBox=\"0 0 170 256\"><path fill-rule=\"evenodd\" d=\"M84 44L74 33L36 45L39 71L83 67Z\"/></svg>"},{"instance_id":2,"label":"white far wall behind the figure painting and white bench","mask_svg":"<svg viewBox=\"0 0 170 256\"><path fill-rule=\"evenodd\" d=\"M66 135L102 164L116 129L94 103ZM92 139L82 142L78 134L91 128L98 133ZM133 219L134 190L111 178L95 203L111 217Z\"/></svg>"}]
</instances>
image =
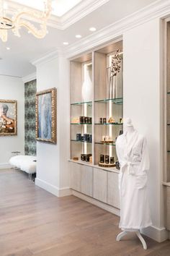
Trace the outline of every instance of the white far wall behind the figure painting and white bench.
<instances>
[{"instance_id":1,"label":"white far wall behind the figure painting and white bench","mask_svg":"<svg viewBox=\"0 0 170 256\"><path fill-rule=\"evenodd\" d=\"M17 136L0 136L0 168L8 167L12 151L24 153L24 82L0 75L0 99L17 101Z\"/></svg>"}]
</instances>

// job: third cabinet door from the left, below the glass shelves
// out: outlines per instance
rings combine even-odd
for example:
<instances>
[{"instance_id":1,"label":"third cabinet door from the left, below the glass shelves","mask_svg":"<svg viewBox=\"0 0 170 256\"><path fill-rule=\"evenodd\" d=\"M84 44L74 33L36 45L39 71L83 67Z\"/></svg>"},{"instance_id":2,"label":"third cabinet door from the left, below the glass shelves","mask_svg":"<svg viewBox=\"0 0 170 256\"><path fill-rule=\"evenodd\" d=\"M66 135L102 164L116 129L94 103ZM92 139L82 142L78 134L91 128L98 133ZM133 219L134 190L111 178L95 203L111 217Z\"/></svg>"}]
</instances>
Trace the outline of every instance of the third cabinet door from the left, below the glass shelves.
<instances>
[{"instance_id":1,"label":"third cabinet door from the left, below the glass shelves","mask_svg":"<svg viewBox=\"0 0 170 256\"><path fill-rule=\"evenodd\" d=\"M107 202L107 171L94 168L94 198Z\"/></svg>"}]
</instances>

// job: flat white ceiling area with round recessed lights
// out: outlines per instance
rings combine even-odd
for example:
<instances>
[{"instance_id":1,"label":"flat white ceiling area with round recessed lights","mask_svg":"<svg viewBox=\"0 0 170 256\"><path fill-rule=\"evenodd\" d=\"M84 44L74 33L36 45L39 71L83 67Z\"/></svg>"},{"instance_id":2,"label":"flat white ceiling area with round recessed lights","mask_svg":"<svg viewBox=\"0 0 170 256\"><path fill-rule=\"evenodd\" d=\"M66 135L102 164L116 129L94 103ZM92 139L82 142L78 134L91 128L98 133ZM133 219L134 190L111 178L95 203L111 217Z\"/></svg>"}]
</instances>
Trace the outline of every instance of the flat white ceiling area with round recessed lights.
<instances>
[{"instance_id":1,"label":"flat white ceiling area with round recessed lights","mask_svg":"<svg viewBox=\"0 0 170 256\"><path fill-rule=\"evenodd\" d=\"M31 2L30 0L27 0L27 2L28 1L29 3ZM82 0L78 6L84 4L85 1L89 0ZM92 2L92 0L90 1ZM102 0L93 1L99 2ZM93 12L88 12L89 14L82 17L81 20L78 20L73 24L71 23L72 25L64 30L48 27L49 33L43 39L35 38L33 35L28 34L24 29L21 30L21 38L17 38L10 32L6 43L0 41L0 58L2 58L0 60L0 74L18 77L24 77L27 74L31 74L32 72L35 72L35 67L30 64L30 61L33 59L38 59L50 51L55 51L57 48L68 48L79 40L81 42L82 39L75 38L76 34L81 34L83 38L86 38L86 36L91 35L89 27L96 27L96 33L99 33L99 30L103 27L138 11L138 9L151 4L153 1L155 0L105 1L105 4L94 9ZM69 45L63 46L64 41L67 41ZM11 48L9 51L6 50L7 46Z\"/></svg>"}]
</instances>

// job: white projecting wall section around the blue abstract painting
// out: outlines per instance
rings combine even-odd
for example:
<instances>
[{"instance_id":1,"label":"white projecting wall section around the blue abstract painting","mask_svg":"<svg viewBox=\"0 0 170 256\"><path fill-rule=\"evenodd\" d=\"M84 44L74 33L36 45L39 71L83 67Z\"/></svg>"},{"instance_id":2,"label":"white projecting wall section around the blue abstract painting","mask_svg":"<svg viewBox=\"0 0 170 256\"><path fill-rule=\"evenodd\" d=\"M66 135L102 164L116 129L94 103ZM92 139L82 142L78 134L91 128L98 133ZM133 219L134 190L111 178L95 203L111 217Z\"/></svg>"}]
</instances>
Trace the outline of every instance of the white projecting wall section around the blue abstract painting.
<instances>
[{"instance_id":1,"label":"white projecting wall section around the blue abstract painting","mask_svg":"<svg viewBox=\"0 0 170 256\"><path fill-rule=\"evenodd\" d=\"M58 56L37 64L37 91L57 88L57 144L37 142L36 184L54 195L67 195L69 187L68 61Z\"/></svg>"}]
</instances>

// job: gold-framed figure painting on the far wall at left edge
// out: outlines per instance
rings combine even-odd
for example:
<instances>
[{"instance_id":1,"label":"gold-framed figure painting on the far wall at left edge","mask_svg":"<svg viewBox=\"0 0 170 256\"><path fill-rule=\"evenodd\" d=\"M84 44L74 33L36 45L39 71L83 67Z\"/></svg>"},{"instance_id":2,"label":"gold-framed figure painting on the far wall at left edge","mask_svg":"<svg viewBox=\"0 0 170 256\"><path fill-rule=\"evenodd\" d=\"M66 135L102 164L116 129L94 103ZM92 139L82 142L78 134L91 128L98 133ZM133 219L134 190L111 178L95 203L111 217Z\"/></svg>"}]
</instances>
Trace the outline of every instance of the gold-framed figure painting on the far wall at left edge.
<instances>
[{"instance_id":1,"label":"gold-framed figure painting on the far wall at left edge","mask_svg":"<svg viewBox=\"0 0 170 256\"><path fill-rule=\"evenodd\" d=\"M17 101L0 100L0 136L17 135Z\"/></svg>"}]
</instances>

